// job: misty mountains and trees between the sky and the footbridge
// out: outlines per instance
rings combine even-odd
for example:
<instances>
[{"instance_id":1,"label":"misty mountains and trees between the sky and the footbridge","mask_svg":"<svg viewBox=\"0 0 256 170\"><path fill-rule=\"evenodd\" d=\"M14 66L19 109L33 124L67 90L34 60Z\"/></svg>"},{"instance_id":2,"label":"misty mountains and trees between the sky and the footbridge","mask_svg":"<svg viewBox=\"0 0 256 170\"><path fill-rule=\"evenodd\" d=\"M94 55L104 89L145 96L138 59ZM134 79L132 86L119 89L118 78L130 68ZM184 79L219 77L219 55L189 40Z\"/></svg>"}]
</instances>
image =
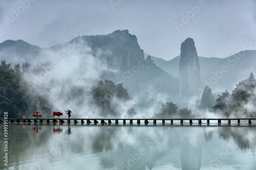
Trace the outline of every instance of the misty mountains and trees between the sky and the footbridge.
<instances>
[{"instance_id":1,"label":"misty mountains and trees between the sky and the footbridge","mask_svg":"<svg viewBox=\"0 0 256 170\"><path fill-rule=\"evenodd\" d=\"M170 61L128 30L78 36L47 48L0 43L0 108L9 118L73 110L73 118L254 118L256 51L198 57L192 38Z\"/></svg>"}]
</instances>

